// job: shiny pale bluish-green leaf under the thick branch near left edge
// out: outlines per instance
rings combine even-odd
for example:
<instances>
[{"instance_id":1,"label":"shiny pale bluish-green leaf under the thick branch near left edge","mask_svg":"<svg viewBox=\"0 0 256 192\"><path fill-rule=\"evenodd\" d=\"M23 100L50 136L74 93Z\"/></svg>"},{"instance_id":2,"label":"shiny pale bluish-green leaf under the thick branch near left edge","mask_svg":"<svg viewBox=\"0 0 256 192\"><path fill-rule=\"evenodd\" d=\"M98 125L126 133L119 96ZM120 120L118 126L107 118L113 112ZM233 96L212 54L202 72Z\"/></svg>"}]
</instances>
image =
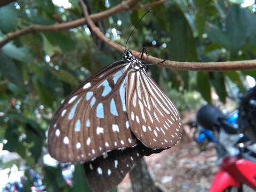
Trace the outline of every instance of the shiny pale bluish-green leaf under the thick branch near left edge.
<instances>
[{"instance_id":1,"label":"shiny pale bluish-green leaf under the thick branch near left edge","mask_svg":"<svg viewBox=\"0 0 256 192\"><path fill-rule=\"evenodd\" d=\"M22 62L30 62L33 60L33 54L26 46L17 47L13 43L8 43L2 49L3 52L12 59Z\"/></svg>"}]
</instances>

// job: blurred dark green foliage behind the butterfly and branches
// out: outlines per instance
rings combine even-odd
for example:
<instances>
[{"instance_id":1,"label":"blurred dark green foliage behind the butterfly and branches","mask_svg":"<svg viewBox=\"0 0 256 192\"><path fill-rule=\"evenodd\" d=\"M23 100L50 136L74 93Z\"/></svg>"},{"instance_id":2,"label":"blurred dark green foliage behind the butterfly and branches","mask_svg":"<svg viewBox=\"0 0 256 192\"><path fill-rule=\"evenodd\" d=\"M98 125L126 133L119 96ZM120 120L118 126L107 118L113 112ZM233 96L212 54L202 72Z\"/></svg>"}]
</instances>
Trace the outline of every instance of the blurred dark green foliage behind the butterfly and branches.
<instances>
[{"instance_id":1,"label":"blurred dark green foliage behind the butterfly and branches","mask_svg":"<svg viewBox=\"0 0 256 192\"><path fill-rule=\"evenodd\" d=\"M61 1L60 1L61 2ZM66 2L66 1L63 1ZM0 8L0 39L30 25L50 25L82 17L79 1L68 7L51 0L22 0ZM119 1L86 1L97 13ZM153 1L141 1L145 5ZM176 61L235 61L256 57L256 4L243 1L166 1L151 7L128 42L130 49ZM103 33L123 44L146 10L122 12L97 23ZM1 169L18 166L37 170L44 176L47 191L88 191L82 166L77 165L74 183L68 186L61 166L45 165L46 131L61 101L78 84L121 53L91 36L87 26L59 33L31 33L6 44L0 51L0 142L3 149L19 154L19 160L0 163ZM196 108L212 101L211 90L220 100L229 97L228 82L245 91L245 75L256 71L194 72L171 71L150 66L149 74L169 94L178 108ZM228 80L228 81L227 81ZM26 175L26 174L25 174ZM28 178L25 187L33 182Z\"/></svg>"}]
</instances>

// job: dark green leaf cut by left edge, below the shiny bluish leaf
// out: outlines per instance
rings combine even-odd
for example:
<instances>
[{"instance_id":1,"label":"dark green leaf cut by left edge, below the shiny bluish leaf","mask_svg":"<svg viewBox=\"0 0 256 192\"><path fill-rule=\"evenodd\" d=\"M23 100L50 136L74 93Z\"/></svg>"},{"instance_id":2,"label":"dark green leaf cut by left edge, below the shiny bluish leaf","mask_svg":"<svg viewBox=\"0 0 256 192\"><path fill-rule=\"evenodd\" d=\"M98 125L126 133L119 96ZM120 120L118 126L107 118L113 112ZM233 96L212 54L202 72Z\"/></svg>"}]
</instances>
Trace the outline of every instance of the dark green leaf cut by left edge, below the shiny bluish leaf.
<instances>
[{"instance_id":1,"label":"dark green leaf cut by left edge, below the shiny bluish leaf","mask_svg":"<svg viewBox=\"0 0 256 192\"><path fill-rule=\"evenodd\" d=\"M20 75L19 69L16 67L13 60L11 60L7 55L0 51L0 71L1 74L9 79L11 82L22 86L23 80ZM3 73L4 72L4 73Z\"/></svg>"}]
</instances>

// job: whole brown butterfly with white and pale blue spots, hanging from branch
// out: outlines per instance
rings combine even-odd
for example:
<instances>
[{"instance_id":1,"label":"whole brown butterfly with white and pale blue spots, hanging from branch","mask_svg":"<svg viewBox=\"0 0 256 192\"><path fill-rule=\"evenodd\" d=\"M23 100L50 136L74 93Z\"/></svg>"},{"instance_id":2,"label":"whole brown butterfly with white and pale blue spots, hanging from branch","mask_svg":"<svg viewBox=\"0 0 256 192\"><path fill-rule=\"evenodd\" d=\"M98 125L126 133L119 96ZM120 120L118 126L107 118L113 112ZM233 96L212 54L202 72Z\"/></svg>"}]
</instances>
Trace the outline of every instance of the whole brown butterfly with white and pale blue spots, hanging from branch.
<instances>
[{"instance_id":1,"label":"whole brown butterfly with white and pale blue spots, hanging from branch","mask_svg":"<svg viewBox=\"0 0 256 192\"><path fill-rule=\"evenodd\" d=\"M143 156L174 146L182 128L177 108L125 50L79 85L53 116L48 148L60 162L84 162L92 191L108 191Z\"/></svg>"}]
</instances>

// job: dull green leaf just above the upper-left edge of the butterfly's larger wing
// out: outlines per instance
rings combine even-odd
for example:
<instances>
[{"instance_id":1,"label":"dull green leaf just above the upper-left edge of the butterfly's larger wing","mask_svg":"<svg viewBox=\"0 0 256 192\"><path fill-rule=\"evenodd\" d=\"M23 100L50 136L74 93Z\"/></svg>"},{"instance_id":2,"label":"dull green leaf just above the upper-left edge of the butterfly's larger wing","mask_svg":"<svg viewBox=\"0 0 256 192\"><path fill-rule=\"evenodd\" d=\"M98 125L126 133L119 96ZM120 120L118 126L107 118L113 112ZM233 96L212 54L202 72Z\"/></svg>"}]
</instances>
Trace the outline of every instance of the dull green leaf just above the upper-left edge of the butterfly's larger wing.
<instances>
[{"instance_id":1,"label":"dull green leaf just above the upper-left edge of the butterfly's larger wing","mask_svg":"<svg viewBox=\"0 0 256 192\"><path fill-rule=\"evenodd\" d=\"M77 79L74 75L69 73L68 71L64 69L54 69L52 67L49 67L49 70L53 75L55 75L58 79L60 79L63 82L69 83L71 85L78 85Z\"/></svg>"}]
</instances>

